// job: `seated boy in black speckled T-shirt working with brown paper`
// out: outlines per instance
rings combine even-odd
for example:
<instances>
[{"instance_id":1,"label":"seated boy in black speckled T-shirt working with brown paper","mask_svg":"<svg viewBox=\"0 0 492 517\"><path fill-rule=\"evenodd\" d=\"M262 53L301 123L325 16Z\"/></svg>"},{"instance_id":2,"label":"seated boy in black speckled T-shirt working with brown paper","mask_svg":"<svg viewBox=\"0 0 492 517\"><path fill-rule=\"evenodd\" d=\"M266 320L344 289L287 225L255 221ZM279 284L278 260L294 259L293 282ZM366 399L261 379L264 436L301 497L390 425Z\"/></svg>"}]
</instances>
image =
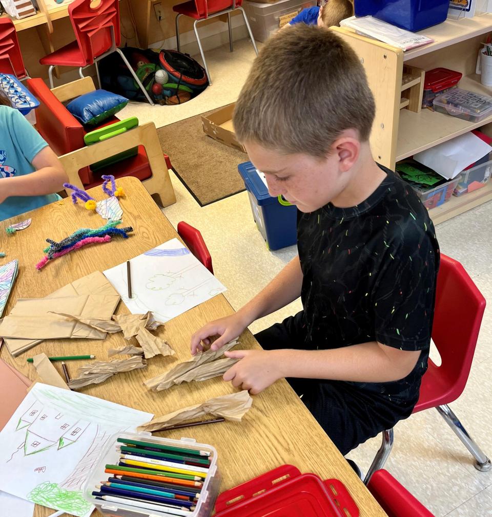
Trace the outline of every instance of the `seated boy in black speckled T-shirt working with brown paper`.
<instances>
[{"instance_id":1,"label":"seated boy in black speckled T-shirt working with brown paper","mask_svg":"<svg viewBox=\"0 0 492 517\"><path fill-rule=\"evenodd\" d=\"M342 454L411 414L439 266L427 210L372 158L374 111L334 32L299 24L265 43L233 121L270 194L298 208L298 256L191 341L195 354L219 334L217 349L301 296L300 313L256 335L264 350L226 353L240 360L224 380L255 394L286 377Z\"/></svg>"}]
</instances>

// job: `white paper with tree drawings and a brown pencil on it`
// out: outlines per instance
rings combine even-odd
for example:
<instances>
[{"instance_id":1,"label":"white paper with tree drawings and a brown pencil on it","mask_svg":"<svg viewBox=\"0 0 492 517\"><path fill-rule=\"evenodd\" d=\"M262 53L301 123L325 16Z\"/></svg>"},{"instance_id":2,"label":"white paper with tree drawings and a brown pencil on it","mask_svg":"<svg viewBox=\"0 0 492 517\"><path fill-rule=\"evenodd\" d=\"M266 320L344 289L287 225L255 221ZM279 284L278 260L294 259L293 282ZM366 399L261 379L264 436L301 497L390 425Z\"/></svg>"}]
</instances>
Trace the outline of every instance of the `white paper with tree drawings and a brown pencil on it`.
<instances>
[{"instance_id":1,"label":"white paper with tree drawings and a brown pencil on it","mask_svg":"<svg viewBox=\"0 0 492 517\"><path fill-rule=\"evenodd\" d=\"M126 263L104 271L132 314L151 311L167 322L226 288L187 250L171 239L132 258L132 298L128 298Z\"/></svg>"}]
</instances>

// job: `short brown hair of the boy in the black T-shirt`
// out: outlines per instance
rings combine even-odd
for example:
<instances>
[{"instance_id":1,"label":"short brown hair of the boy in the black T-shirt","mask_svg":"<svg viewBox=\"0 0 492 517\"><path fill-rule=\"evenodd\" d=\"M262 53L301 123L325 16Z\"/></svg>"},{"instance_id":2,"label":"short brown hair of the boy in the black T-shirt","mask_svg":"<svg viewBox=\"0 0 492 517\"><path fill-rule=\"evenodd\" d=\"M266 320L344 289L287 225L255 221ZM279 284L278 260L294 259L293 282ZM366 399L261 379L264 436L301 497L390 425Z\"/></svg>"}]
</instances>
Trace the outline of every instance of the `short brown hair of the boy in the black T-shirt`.
<instances>
[{"instance_id":1,"label":"short brown hair of the boy in the black T-shirt","mask_svg":"<svg viewBox=\"0 0 492 517\"><path fill-rule=\"evenodd\" d=\"M324 157L345 129L369 139L374 99L355 52L333 31L299 23L259 52L234 111L240 142Z\"/></svg>"}]
</instances>

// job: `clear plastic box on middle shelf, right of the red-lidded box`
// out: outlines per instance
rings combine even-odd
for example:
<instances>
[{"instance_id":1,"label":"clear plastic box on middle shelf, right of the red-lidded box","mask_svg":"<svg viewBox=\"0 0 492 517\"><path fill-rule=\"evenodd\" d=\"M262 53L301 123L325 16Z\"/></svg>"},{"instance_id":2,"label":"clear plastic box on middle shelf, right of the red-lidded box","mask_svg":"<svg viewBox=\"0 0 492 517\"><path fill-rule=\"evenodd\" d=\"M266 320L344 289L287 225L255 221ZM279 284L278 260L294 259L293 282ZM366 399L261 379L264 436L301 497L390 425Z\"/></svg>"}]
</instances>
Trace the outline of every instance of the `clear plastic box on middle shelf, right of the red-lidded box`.
<instances>
[{"instance_id":1,"label":"clear plastic box on middle shelf, right of the red-lidded box","mask_svg":"<svg viewBox=\"0 0 492 517\"><path fill-rule=\"evenodd\" d=\"M479 123L492 115L492 97L452 88L433 101L434 109L453 117Z\"/></svg>"}]
</instances>

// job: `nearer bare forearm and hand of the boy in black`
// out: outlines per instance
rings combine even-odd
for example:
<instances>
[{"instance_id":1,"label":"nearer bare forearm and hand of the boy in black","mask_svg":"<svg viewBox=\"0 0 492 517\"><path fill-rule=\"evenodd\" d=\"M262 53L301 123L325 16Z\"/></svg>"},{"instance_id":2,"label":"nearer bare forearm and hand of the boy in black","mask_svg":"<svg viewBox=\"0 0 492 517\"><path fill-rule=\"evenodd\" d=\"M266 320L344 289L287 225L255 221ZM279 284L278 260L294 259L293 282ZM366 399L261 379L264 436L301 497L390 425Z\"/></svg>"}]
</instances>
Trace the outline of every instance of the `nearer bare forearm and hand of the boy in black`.
<instances>
[{"instance_id":1,"label":"nearer bare forearm and hand of the boy in black","mask_svg":"<svg viewBox=\"0 0 492 517\"><path fill-rule=\"evenodd\" d=\"M377 341L329 350L234 350L225 356L241 360L224 374L224 381L252 394L282 377L384 383L406 377L420 353Z\"/></svg>"}]
</instances>

